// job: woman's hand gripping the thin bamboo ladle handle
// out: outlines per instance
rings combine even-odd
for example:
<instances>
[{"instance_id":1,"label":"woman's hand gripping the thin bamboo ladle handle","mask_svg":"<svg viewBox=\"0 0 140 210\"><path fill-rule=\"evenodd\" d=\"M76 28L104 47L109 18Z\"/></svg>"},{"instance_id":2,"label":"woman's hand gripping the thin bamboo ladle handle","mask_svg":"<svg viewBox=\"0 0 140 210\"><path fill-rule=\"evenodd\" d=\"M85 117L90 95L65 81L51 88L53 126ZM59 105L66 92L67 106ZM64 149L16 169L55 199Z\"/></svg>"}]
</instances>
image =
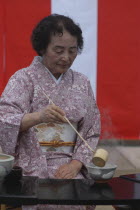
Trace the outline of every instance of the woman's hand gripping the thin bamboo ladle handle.
<instances>
[{"instance_id":1,"label":"woman's hand gripping the thin bamboo ladle handle","mask_svg":"<svg viewBox=\"0 0 140 210\"><path fill-rule=\"evenodd\" d=\"M65 116L64 111L54 104L48 105L46 108L44 108L42 111L39 112L41 123L66 122L66 120L64 119L64 116Z\"/></svg>"}]
</instances>

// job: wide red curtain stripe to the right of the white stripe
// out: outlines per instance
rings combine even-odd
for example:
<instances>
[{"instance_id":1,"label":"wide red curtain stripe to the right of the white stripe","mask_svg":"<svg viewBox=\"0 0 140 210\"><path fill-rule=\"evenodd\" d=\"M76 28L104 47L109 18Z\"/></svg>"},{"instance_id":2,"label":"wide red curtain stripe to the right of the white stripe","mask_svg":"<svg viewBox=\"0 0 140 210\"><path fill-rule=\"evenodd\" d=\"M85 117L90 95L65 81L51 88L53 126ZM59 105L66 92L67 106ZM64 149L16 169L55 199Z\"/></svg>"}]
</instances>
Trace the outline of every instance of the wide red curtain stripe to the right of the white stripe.
<instances>
[{"instance_id":1,"label":"wide red curtain stripe to the right of the white stripe","mask_svg":"<svg viewBox=\"0 0 140 210\"><path fill-rule=\"evenodd\" d=\"M140 1L99 0L97 101L102 138L140 135Z\"/></svg>"}]
</instances>

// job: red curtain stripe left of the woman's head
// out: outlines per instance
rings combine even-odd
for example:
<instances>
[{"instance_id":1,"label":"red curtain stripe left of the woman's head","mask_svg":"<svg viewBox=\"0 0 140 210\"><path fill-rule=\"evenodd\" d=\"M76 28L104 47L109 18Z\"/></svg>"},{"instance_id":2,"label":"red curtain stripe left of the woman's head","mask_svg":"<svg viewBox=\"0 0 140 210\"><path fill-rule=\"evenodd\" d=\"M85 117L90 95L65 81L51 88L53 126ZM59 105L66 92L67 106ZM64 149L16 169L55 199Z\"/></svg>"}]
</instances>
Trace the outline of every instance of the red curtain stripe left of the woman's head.
<instances>
[{"instance_id":1,"label":"red curtain stripe left of the woman's head","mask_svg":"<svg viewBox=\"0 0 140 210\"><path fill-rule=\"evenodd\" d=\"M51 13L51 0L7 0L3 1L3 6L6 8L6 72L0 90L15 71L31 63L35 52L31 47L30 35L36 23Z\"/></svg>"}]
</instances>

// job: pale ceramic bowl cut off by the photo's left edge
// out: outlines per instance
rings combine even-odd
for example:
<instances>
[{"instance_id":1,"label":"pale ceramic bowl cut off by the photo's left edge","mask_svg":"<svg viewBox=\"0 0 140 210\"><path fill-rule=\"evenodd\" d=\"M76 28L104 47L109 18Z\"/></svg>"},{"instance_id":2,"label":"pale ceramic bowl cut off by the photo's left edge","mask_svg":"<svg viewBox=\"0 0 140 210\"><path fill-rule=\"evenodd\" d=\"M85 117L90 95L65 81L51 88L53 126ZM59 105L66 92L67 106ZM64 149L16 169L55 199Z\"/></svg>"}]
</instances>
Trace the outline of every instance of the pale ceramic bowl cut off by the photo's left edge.
<instances>
[{"instance_id":1,"label":"pale ceramic bowl cut off by the photo's left edge","mask_svg":"<svg viewBox=\"0 0 140 210\"><path fill-rule=\"evenodd\" d=\"M0 181L12 170L14 159L11 155L0 153Z\"/></svg>"}]
</instances>

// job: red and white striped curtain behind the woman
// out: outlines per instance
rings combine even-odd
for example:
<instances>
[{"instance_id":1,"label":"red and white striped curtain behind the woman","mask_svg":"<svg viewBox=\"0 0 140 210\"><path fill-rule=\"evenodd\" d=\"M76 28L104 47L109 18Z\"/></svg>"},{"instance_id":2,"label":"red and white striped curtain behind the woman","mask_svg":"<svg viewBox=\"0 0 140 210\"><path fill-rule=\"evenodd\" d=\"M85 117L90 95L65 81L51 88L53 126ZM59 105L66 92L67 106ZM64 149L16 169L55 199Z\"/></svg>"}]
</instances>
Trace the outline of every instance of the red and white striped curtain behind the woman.
<instances>
[{"instance_id":1,"label":"red and white striped curtain behind the woman","mask_svg":"<svg viewBox=\"0 0 140 210\"><path fill-rule=\"evenodd\" d=\"M35 52L30 35L51 13L79 23L85 41L72 68L91 80L102 139L140 139L139 0L0 0L0 93Z\"/></svg>"}]
</instances>

